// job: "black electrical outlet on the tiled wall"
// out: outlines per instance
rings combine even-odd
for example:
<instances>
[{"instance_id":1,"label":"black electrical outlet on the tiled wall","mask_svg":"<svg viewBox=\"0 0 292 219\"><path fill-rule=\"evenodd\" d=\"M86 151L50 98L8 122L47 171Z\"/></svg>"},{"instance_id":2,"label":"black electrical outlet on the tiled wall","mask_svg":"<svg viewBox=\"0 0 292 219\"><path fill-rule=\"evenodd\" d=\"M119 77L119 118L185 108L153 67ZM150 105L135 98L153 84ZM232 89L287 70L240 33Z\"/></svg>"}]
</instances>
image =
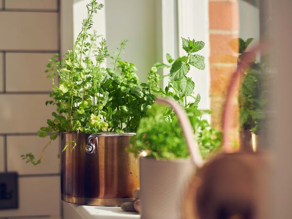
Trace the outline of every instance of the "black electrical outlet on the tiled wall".
<instances>
[{"instance_id":1,"label":"black electrical outlet on the tiled wall","mask_svg":"<svg viewBox=\"0 0 292 219\"><path fill-rule=\"evenodd\" d=\"M18 208L18 174L0 173L0 209Z\"/></svg>"}]
</instances>

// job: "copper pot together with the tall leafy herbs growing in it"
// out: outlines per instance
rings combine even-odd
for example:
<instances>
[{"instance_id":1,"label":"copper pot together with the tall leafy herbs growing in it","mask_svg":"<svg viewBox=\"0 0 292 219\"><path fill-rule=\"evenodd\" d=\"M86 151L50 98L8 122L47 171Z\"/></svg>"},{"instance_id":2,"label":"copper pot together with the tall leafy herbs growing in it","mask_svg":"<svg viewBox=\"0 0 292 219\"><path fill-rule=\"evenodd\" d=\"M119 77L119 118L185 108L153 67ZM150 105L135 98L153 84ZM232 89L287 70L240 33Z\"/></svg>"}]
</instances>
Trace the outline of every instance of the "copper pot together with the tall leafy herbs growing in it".
<instances>
[{"instance_id":1,"label":"copper pot together with the tall leafy herbs growing in it","mask_svg":"<svg viewBox=\"0 0 292 219\"><path fill-rule=\"evenodd\" d=\"M56 111L38 135L50 135L53 141L61 133L62 200L118 206L132 200L139 187L137 160L125 149L155 95L148 85L140 85L134 64L120 59L125 40L110 56L106 40L97 45L96 34L89 33L92 17L102 7L91 0L73 50L50 59L46 72L53 91L46 105L56 106ZM112 68L102 65L108 57ZM42 155L35 159L32 153L22 158L35 165L42 161Z\"/></svg>"}]
</instances>

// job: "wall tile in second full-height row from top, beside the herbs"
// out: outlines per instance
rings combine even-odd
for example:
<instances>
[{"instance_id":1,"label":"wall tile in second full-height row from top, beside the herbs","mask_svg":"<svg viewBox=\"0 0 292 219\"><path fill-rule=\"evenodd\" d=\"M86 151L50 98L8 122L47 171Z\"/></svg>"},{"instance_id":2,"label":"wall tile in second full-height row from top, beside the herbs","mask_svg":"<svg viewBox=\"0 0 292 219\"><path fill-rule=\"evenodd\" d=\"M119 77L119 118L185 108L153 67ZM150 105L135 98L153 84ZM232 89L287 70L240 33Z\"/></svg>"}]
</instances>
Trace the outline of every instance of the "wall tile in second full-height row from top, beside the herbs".
<instances>
[{"instance_id":1,"label":"wall tile in second full-height row from top, beside the herbs","mask_svg":"<svg viewBox=\"0 0 292 219\"><path fill-rule=\"evenodd\" d=\"M6 53L6 91L51 91L52 80L45 70L52 55Z\"/></svg>"}]
</instances>

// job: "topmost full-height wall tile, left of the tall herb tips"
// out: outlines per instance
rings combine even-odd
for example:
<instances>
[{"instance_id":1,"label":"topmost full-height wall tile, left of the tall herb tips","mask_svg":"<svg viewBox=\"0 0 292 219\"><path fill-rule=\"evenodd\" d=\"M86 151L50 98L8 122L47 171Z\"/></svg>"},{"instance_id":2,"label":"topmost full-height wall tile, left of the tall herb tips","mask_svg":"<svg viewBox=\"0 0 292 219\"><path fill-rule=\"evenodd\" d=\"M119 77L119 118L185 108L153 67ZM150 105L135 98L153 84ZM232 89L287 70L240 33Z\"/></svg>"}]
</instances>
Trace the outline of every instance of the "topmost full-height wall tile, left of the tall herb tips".
<instances>
[{"instance_id":1,"label":"topmost full-height wall tile, left of the tall herb tips","mask_svg":"<svg viewBox=\"0 0 292 219\"><path fill-rule=\"evenodd\" d=\"M58 50L58 13L1 11L0 50ZM2 32L3 33L3 32Z\"/></svg>"}]
</instances>

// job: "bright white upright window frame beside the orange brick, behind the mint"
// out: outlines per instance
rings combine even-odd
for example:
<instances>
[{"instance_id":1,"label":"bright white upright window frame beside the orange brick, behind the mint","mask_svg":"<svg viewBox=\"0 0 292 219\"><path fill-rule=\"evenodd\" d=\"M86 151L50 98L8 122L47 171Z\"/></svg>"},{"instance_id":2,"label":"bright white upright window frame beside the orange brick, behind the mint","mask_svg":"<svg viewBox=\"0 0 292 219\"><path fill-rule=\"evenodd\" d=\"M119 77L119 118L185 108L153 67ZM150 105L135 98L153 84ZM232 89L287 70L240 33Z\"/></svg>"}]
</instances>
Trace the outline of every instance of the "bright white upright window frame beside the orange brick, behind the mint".
<instances>
[{"instance_id":1,"label":"bright white upright window frame beside the orange brick, behind the mint","mask_svg":"<svg viewBox=\"0 0 292 219\"><path fill-rule=\"evenodd\" d=\"M200 109L210 109L210 42L209 42L209 2L206 0L178 0L179 55L185 55L181 37L204 41L205 47L199 52L205 56L204 71L191 68L190 77L195 82L194 94L200 93Z\"/></svg>"}]
</instances>

